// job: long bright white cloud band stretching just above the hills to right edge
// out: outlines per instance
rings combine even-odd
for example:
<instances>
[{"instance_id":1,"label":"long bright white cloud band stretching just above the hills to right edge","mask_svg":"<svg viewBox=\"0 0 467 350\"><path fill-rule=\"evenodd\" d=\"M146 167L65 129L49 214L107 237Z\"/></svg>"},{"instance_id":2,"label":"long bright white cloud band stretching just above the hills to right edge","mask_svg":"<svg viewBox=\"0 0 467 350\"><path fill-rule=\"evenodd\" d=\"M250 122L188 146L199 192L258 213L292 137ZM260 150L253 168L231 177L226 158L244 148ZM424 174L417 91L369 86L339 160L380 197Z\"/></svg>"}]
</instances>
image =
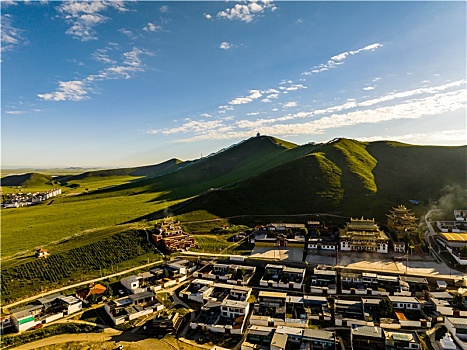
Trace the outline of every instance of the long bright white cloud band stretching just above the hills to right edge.
<instances>
[{"instance_id":1,"label":"long bright white cloud band stretching just above the hills to right edge","mask_svg":"<svg viewBox=\"0 0 467 350\"><path fill-rule=\"evenodd\" d=\"M181 127L160 130L158 133L192 134L188 138L178 140L178 142L191 142L215 138L241 138L251 136L252 132L258 130L263 134L269 135L322 134L328 129L344 128L360 124L376 124L400 119L420 119L426 116L442 115L443 113L465 109L465 100L467 99L465 87L454 91L445 91L440 89L440 87L434 87L433 91L435 92L432 95L407 99L392 105L376 108L362 108L355 99L351 99L347 100L344 104L331 106L326 109L300 111L277 118L244 119L231 123L227 123L227 119L223 121L213 121L212 123L190 120ZM296 106L296 103L289 102L285 104L284 107L286 105ZM349 109L355 110L347 111ZM259 112L252 112L247 115L254 117L259 114ZM318 119L316 119L317 117ZM297 122L297 120L300 119L302 121ZM455 135L457 136L453 134L454 132L433 133L432 139L458 138L461 133L456 130ZM411 140L416 139L414 134L409 136Z\"/></svg>"}]
</instances>

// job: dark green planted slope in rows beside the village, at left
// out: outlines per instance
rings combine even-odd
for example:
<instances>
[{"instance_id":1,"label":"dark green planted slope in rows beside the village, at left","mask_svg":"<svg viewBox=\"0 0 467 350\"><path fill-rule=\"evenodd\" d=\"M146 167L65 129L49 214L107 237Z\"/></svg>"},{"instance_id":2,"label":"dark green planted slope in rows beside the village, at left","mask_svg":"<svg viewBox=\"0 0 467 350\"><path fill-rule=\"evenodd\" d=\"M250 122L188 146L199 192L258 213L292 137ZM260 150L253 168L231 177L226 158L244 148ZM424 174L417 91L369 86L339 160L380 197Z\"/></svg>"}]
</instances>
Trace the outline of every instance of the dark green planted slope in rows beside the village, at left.
<instances>
[{"instance_id":1,"label":"dark green planted slope in rows beside the village, at left","mask_svg":"<svg viewBox=\"0 0 467 350\"><path fill-rule=\"evenodd\" d=\"M117 233L98 242L51 254L47 258L3 268L1 297L5 303L37 294L41 289L45 291L98 277L101 272L117 272L125 267L125 262L142 256L151 260L160 259L153 251L143 231Z\"/></svg>"}]
</instances>

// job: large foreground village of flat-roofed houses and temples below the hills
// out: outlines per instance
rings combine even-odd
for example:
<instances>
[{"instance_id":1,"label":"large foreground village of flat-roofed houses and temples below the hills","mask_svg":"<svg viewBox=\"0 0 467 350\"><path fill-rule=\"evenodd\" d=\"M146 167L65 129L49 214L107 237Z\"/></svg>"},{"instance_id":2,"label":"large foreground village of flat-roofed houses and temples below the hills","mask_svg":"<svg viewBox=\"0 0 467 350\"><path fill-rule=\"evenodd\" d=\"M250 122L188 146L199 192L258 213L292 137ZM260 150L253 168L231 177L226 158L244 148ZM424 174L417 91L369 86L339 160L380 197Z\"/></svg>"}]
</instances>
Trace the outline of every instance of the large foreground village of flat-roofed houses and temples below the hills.
<instances>
[{"instance_id":1,"label":"large foreground village of flat-roofed houses and temples below the hills","mask_svg":"<svg viewBox=\"0 0 467 350\"><path fill-rule=\"evenodd\" d=\"M465 274L408 269L422 254L439 264L434 247L467 264L466 212L454 211L452 221L437 221L435 234L423 236L403 205L387 214L389 232L363 217L334 230L318 220L257 225L234 237L254 243L249 256L191 252L194 237L166 218L150 234L164 255L160 265L13 308L2 326L37 329L98 305L105 327L127 325L155 338L171 333L205 348L222 339L217 349L467 349ZM295 253L275 253L287 249ZM405 269L343 262L368 255L391 256ZM47 259L48 252L36 256Z\"/></svg>"}]
</instances>

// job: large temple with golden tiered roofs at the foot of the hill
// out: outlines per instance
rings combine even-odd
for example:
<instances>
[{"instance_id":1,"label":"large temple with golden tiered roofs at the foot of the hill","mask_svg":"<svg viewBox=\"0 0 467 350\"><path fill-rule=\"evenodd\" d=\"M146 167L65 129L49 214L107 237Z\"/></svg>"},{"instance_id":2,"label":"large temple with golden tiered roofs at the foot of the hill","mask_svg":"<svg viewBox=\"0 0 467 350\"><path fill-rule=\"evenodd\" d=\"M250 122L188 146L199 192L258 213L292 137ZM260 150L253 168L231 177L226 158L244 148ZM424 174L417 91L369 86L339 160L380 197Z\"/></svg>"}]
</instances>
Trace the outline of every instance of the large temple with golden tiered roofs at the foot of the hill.
<instances>
[{"instance_id":1,"label":"large temple with golden tiered roofs at the foot of the hill","mask_svg":"<svg viewBox=\"0 0 467 350\"><path fill-rule=\"evenodd\" d=\"M375 224L375 219L350 219L339 232L340 250L387 253L389 238Z\"/></svg>"}]
</instances>

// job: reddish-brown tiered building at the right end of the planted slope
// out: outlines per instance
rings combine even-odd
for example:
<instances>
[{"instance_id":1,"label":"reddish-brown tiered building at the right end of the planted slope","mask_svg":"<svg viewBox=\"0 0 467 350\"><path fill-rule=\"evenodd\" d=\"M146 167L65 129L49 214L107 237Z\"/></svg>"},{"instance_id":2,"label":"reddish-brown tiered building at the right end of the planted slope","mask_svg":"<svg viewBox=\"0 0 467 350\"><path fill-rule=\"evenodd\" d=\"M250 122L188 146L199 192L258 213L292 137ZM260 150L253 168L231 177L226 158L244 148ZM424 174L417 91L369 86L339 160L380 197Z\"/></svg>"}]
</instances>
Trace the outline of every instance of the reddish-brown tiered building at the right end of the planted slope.
<instances>
[{"instance_id":1,"label":"reddish-brown tiered building at the right end of the planted slope","mask_svg":"<svg viewBox=\"0 0 467 350\"><path fill-rule=\"evenodd\" d=\"M156 224L152 239L156 246L169 253L196 247L195 238L182 230L180 222L175 223L170 218Z\"/></svg>"}]
</instances>

